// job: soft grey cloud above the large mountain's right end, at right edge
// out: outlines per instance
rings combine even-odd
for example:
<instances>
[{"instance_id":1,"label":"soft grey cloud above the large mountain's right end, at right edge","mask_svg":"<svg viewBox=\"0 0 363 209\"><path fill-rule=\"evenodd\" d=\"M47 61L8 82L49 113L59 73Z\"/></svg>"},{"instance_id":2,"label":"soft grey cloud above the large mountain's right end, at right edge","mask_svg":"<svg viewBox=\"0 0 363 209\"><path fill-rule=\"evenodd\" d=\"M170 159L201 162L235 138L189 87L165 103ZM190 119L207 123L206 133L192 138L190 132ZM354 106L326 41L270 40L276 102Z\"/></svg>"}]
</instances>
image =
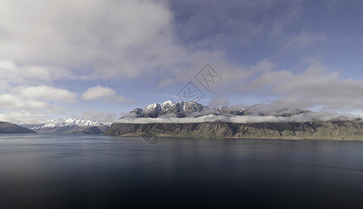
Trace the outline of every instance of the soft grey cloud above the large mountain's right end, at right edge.
<instances>
[{"instance_id":1,"label":"soft grey cloud above the large mountain's right end, at right edge","mask_svg":"<svg viewBox=\"0 0 363 209\"><path fill-rule=\"evenodd\" d=\"M362 82L341 79L339 72L329 70L316 59L309 59L308 63L309 68L297 74L287 70L264 72L236 91L273 95L278 97L271 102L276 107L320 106L335 111L362 109Z\"/></svg>"}]
</instances>

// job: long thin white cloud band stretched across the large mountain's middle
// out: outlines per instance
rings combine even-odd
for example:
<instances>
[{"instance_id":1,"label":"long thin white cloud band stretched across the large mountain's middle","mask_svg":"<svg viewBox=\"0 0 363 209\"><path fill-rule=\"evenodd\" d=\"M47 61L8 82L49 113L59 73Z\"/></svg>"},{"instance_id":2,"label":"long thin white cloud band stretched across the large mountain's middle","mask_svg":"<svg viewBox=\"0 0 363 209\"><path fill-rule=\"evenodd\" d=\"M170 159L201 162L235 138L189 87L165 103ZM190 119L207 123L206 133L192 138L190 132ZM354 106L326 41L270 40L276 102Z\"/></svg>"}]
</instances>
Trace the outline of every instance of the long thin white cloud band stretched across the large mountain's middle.
<instances>
[{"instance_id":1,"label":"long thin white cloud band stretched across the large mountain's middle","mask_svg":"<svg viewBox=\"0 0 363 209\"><path fill-rule=\"evenodd\" d=\"M355 121L352 115L339 115L329 113L311 112L308 114L298 114L295 116L200 116L196 118L176 118L173 116L163 116L160 118L120 118L116 123L205 123L205 122L225 122L225 123L305 123L313 121Z\"/></svg>"}]
</instances>

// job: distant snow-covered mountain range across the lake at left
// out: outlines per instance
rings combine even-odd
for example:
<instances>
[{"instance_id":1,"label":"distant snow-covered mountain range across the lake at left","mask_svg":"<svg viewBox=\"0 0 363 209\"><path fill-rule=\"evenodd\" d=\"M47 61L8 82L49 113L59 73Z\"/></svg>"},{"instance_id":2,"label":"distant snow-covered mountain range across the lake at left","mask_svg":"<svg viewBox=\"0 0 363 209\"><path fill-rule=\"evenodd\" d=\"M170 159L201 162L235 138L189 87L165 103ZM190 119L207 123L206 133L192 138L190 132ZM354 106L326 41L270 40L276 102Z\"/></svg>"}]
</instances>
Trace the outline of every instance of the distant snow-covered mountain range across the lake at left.
<instances>
[{"instance_id":1,"label":"distant snow-covered mountain range across the lake at left","mask_svg":"<svg viewBox=\"0 0 363 209\"><path fill-rule=\"evenodd\" d=\"M111 123L101 123L98 121L91 121L91 120L78 120L74 118L68 118L68 119L59 118L46 121L39 121L39 123L36 124L29 124L29 123L17 123L17 124L22 127L27 127L39 133L47 133L47 132L80 133L86 130L86 128L90 127L97 127L97 129L101 130L101 132L105 132L108 130ZM96 132L92 132L91 130L88 130L86 132L98 133L99 132L98 130Z\"/></svg>"}]
</instances>

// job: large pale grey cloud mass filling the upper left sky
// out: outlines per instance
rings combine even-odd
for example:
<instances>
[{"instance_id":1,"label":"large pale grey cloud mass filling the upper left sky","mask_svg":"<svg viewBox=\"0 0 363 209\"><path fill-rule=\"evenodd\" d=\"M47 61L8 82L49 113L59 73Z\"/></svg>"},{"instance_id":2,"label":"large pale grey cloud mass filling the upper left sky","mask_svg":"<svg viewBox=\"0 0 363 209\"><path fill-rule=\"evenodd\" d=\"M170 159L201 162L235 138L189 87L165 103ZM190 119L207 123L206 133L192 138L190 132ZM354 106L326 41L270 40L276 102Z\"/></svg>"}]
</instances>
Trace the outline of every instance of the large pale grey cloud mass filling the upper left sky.
<instances>
[{"instance_id":1,"label":"large pale grey cloud mass filling the upper left sky","mask_svg":"<svg viewBox=\"0 0 363 209\"><path fill-rule=\"evenodd\" d=\"M167 1L35 0L30 4L14 0L2 4L0 57L13 65L29 66L36 72L29 75L48 82L137 79L144 83L151 79L161 87L172 81L184 83L210 61L227 63L221 49L195 50L180 42L172 3ZM17 77L7 80L13 78Z\"/></svg>"}]
</instances>

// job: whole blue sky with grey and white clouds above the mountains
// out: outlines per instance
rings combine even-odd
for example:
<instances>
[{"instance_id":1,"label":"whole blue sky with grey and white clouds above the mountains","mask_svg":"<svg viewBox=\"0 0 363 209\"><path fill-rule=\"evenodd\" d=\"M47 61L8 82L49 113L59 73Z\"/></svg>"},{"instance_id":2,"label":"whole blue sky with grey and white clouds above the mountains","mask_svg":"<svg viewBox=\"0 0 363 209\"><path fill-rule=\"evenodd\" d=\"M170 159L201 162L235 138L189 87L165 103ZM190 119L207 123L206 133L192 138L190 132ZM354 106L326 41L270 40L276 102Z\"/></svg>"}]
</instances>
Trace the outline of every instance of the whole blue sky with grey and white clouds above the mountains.
<instances>
[{"instance_id":1,"label":"whole blue sky with grey and white clouds above the mountains","mask_svg":"<svg viewBox=\"0 0 363 209\"><path fill-rule=\"evenodd\" d=\"M154 102L363 113L363 2L0 1L0 121Z\"/></svg>"}]
</instances>

